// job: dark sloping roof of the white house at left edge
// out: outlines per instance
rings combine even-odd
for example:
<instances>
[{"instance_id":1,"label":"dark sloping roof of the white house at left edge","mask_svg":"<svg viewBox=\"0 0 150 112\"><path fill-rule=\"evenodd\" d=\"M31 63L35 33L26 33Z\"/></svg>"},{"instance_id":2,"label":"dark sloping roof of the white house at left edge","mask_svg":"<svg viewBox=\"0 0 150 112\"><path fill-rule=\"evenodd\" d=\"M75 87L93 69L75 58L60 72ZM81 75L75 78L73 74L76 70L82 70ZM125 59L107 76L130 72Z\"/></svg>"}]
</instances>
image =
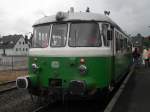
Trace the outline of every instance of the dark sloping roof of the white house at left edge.
<instances>
[{"instance_id":1,"label":"dark sloping roof of the white house at left edge","mask_svg":"<svg viewBox=\"0 0 150 112\"><path fill-rule=\"evenodd\" d=\"M3 36L3 38L0 38L0 49L3 47L6 49L12 49L20 38L23 38L23 35Z\"/></svg>"}]
</instances>

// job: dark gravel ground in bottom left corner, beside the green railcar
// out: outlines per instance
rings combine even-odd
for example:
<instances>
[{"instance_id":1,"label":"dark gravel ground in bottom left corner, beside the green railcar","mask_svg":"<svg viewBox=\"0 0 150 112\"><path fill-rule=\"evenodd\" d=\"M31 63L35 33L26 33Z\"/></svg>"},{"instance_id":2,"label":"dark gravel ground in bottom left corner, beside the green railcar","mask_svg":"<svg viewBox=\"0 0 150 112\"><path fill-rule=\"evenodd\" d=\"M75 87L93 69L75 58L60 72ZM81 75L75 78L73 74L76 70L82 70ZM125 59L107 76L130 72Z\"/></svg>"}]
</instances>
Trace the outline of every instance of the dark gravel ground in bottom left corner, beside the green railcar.
<instances>
[{"instance_id":1,"label":"dark gravel ground in bottom left corner, beside the green railcar","mask_svg":"<svg viewBox=\"0 0 150 112\"><path fill-rule=\"evenodd\" d=\"M27 90L13 90L0 95L0 112L32 112L32 103Z\"/></svg>"}]
</instances>

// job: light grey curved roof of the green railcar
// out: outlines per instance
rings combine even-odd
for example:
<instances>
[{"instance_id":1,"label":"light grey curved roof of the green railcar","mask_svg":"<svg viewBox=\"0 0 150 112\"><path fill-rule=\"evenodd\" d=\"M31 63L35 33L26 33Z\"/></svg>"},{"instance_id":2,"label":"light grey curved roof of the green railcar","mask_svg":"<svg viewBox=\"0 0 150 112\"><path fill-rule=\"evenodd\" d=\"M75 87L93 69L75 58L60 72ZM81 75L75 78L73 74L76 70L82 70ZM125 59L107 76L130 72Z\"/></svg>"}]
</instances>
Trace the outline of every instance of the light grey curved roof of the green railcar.
<instances>
[{"instance_id":1,"label":"light grey curved roof of the green railcar","mask_svg":"<svg viewBox=\"0 0 150 112\"><path fill-rule=\"evenodd\" d=\"M118 30L123 32L123 30L108 16L104 14L97 13L87 13L87 12L74 12L74 13L65 13L66 17L62 21L104 21L113 24ZM33 26L42 25L46 23L58 22L56 20L56 15L46 16L37 20ZM124 32L123 32L124 33ZM125 33L124 33L125 34Z\"/></svg>"}]
</instances>

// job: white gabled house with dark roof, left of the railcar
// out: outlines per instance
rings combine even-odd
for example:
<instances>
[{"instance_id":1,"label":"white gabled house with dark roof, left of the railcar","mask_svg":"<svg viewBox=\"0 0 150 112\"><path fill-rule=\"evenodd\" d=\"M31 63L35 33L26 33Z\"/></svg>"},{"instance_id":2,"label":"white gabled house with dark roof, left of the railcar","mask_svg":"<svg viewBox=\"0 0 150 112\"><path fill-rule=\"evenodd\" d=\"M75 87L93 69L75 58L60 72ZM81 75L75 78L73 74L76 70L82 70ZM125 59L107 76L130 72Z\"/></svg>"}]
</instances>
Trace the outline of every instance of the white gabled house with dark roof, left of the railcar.
<instances>
[{"instance_id":1,"label":"white gabled house with dark roof, left of the railcar","mask_svg":"<svg viewBox=\"0 0 150 112\"><path fill-rule=\"evenodd\" d=\"M0 38L0 55L26 56L28 51L29 45L23 35L8 35Z\"/></svg>"}]
</instances>

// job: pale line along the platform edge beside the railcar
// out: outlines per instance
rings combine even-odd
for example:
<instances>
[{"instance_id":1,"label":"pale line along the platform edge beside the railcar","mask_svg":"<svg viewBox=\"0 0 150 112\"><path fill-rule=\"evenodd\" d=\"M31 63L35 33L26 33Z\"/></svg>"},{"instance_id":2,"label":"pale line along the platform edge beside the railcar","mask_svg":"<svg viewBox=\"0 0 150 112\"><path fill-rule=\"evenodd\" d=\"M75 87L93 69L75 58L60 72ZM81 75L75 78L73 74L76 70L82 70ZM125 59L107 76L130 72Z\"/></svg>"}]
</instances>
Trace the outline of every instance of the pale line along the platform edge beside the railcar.
<instances>
[{"instance_id":1,"label":"pale line along the platform edge beside the railcar","mask_svg":"<svg viewBox=\"0 0 150 112\"><path fill-rule=\"evenodd\" d=\"M107 105L107 107L105 108L104 112L111 112L113 107L115 106L117 100L119 99L121 93L123 92L125 85L127 84L130 76L132 75L134 71L134 65L131 67L130 72L128 73L127 77L125 78L125 80L123 81L123 83L121 84L119 90L117 91L117 93L114 95L114 97L111 99L111 101L109 102L109 104Z\"/></svg>"}]
</instances>

